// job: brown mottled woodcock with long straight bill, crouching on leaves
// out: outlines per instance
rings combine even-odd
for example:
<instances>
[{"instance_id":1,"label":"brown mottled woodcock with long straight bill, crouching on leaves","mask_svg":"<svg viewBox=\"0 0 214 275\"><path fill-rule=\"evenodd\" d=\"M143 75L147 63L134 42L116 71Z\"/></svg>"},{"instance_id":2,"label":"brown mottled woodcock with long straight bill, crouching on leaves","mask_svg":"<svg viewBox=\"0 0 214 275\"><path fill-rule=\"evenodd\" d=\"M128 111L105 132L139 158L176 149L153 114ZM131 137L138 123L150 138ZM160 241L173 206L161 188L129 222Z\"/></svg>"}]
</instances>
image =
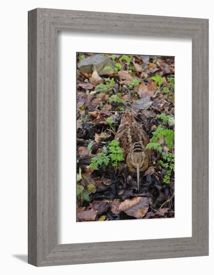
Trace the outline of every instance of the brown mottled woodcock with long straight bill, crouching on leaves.
<instances>
[{"instance_id":1,"label":"brown mottled woodcock with long straight bill, crouching on leaves","mask_svg":"<svg viewBox=\"0 0 214 275\"><path fill-rule=\"evenodd\" d=\"M137 173L137 189L139 190L139 172L147 169L151 159L151 150L145 149L149 138L130 112L123 114L114 138L119 141L123 149L128 169Z\"/></svg>"}]
</instances>

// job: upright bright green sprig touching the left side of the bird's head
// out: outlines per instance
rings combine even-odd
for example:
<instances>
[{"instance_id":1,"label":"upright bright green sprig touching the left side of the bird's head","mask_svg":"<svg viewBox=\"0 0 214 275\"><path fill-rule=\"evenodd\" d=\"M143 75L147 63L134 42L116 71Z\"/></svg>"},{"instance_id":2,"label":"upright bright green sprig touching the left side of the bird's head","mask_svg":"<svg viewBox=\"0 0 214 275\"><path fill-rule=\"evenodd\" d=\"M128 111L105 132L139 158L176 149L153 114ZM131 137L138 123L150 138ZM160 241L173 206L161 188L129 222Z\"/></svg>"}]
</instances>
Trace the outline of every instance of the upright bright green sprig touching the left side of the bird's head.
<instances>
[{"instance_id":1,"label":"upright bright green sprig touching the left side of the bird's head","mask_svg":"<svg viewBox=\"0 0 214 275\"><path fill-rule=\"evenodd\" d=\"M119 146L119 141L114 139L111 140L108 145L108 151L109 151L111 164L113 167L115 167L115 170L116 170L118 162L121 162L124 160L123 150Z\"/></svg>"}]
</instances>

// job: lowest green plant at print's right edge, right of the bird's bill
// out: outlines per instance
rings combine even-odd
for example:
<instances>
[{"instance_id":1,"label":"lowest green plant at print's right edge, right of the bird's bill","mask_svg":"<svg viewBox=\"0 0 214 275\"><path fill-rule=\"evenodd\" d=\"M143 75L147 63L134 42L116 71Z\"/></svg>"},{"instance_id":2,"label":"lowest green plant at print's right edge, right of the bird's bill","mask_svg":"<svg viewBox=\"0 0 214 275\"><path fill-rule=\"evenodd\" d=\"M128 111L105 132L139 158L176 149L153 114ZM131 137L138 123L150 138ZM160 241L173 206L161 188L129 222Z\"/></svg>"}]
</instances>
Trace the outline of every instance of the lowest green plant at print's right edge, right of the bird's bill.
<instances>
[{"instance_id":1,"label":"lowest green plant at print's right edge, right of the bird's bill","mask_svg":"<svg viewBox=\"0 0 214 275\"><path fill-rule=\"evenodd\" d=\"M158 163L165 169L167 169L166 173L163 177L163 182L166 184L170 183L170 177L172 171L174 171L174 154L169 152L163 152L161 158L164 160L159 159Z\"/></svg>"}]
</instances>

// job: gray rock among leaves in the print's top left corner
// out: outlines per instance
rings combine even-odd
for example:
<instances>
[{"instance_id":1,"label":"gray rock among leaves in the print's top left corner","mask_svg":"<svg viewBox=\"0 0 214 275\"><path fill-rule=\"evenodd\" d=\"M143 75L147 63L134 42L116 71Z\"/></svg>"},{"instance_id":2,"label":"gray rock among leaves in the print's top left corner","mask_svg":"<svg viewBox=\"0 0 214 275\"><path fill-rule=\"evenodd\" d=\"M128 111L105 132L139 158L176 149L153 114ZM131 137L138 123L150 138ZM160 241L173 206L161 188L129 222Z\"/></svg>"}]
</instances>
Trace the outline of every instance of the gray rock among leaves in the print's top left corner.
<instances>
[{"instance_id":1,"label":"gray rock among leaves in the print's top left corner","mask_svg":"<svg viewBox=\"0 0 214 275\"><path fill-rule=\"evenodd\" d=\"M99 75L114 73L113 69L104 69L104 67L114 67L114 61L107 56L96 54L86 57L79 61L78 68L81 73L91 73L94 68Z\"/></svg>"}]
</instances>

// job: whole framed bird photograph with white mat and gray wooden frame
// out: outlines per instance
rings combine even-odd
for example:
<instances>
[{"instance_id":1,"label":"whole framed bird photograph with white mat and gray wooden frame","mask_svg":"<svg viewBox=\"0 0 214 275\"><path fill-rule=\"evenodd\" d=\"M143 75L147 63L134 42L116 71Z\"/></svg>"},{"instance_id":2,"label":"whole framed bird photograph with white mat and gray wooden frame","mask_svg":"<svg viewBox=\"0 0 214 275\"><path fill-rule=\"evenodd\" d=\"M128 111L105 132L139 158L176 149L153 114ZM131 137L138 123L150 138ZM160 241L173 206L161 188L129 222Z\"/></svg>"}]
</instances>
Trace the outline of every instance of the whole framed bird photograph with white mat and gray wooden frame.
<instances>
[{"instance_id":1,"label":"whole framed bird photograph with white mat and gray wooden frame","mask_svg":"<svg viewBox=\"0 0 214 275\"><path fill-rule=\"evenodd\" d=\"M208 20L28 12L28 262L208 255Z\"/></svg>"}]
</instances>

